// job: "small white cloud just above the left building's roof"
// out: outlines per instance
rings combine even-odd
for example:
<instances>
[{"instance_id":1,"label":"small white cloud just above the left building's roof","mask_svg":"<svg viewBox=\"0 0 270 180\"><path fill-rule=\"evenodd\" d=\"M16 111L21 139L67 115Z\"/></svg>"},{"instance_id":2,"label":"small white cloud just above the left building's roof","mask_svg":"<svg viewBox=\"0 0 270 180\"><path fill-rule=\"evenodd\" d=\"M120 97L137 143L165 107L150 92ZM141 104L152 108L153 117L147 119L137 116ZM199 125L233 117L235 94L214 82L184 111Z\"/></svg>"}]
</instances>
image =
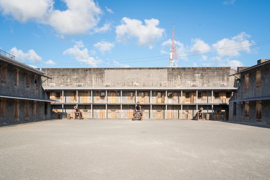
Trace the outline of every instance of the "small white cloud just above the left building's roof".
<instances>
[{"instance_id":1,"label":"small white cloud just above the left building's roof","mask_svg":"<svg viewBox=\"0 0 270 180\"><path fill-rule=\"evenodd\" d=\"M24 52L21 49L17 49L16 47L13 47L12 49L10 49L10 52L12 53L12 55L15 56L16 60L32 61L32 62L42 61L42 58L33 49L30 49L27 52Z\"/></svg>"}]
</instances>

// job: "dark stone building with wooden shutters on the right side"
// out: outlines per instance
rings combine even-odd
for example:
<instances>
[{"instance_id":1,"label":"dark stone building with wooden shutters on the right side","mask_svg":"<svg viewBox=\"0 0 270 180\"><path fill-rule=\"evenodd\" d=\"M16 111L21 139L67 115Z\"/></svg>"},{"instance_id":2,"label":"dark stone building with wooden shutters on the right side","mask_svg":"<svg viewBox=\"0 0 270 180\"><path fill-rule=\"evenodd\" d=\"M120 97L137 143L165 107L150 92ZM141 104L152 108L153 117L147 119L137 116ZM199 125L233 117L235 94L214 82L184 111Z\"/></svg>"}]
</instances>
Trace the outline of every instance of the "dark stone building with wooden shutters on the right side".
<instances>
[{"instance_id":1,"label":"dark stone building with wooden shutters on the right side","mask_svg":"<svg viewBox=\"0 0 270 180\"><path fill-rule=\"evenodd\" d=\"M229 119L270 124L270 60L258 60L231 76L239 76L240 86L229 102Z\"/></svg>"}]
</instances>

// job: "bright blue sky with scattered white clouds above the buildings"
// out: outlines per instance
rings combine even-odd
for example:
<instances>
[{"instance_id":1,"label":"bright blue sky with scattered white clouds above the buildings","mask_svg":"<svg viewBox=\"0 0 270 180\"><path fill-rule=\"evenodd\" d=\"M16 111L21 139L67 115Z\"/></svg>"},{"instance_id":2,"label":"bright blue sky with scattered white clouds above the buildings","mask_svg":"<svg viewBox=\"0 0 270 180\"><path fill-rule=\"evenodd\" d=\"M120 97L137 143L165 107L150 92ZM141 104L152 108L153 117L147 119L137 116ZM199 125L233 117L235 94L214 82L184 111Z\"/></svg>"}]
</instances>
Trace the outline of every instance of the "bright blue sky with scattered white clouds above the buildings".
<instances>
[{"instance_id":1,"label":"bright blue sky with scattered white clouds above the buildings","mask_svg":"<svg viewBox=\"0 0 270 180\"><path fill-rule=\"evenodd\" d=\"M269 59L270 1L0 0L0 48L35 67L251 66Z\"/></svg>"}]
</instances>

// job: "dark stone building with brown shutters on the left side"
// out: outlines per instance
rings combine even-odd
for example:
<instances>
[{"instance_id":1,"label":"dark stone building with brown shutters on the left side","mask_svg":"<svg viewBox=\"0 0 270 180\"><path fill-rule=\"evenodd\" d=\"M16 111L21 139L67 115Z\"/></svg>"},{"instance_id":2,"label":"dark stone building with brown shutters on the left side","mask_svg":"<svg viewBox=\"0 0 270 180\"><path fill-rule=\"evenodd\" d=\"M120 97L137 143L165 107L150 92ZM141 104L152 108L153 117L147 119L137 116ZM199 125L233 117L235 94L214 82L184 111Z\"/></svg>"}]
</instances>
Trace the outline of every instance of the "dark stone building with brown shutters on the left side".
<instances>
[{"instance_id":1,"label":"dark stone building with brown shutters on the left side","mask_svg":"<svg viewBox=\"0 0 270 180\"><path fill-rule=\"evenodd\" d=\"M0 125L50 118L52 100L41 86L41 77L49 78L0 50Z\"/></svg>"}]
</instances>

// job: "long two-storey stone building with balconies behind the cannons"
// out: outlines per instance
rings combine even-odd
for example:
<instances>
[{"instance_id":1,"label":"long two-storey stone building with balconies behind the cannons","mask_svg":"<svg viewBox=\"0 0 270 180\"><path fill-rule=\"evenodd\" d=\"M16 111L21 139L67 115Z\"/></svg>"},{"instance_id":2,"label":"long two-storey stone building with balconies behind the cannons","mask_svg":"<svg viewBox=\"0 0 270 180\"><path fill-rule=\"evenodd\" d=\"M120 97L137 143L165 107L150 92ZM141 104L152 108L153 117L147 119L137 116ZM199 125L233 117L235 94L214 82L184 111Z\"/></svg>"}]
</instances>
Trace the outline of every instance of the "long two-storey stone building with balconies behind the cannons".
<instances>
[{"instance_id":1,"label":"long two-storey stone building with balconies behind the cannons","mask_svg":"<svg viewBox=\"0 0 270 180\"><path fill-rule=\"evenodd\" d=\"M52 109L84 118L132 118L140 101L144 119L191 119L201 107L212 119L228 119L236 91L230 67L42 68ZM223 114L222 114L223 113ZM215 115L217 114L217 115ZM226 116L227 115L227 116Z\"/></svg>"}]
</instances>

